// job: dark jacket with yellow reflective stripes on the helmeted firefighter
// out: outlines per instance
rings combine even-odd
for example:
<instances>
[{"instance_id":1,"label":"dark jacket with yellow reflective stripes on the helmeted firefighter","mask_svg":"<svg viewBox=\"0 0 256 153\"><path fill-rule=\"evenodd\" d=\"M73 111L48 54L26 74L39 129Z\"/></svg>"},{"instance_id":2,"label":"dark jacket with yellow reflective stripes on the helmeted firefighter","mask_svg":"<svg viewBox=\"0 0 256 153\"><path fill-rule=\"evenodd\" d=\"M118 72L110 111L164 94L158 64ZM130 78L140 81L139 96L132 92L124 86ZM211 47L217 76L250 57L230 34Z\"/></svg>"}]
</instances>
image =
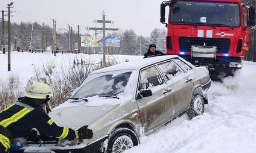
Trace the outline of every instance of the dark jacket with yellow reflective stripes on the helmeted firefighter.
<instances>
[{"instance_id":1,"label":"dark jacket with yellow reflective stripes on the helmeted firefighter","mask_svg":"<svg viewBox=\"0 0 256 153\"><path fill-rule=\"evenodd\" d=\"M74 130L57 126L40 105L26 98L19 98L18 103L0 113L0 125L9 130L13 138L26 137L32 128L36 128L42 135L54 138L76 138Z\"/></svg>"}]
</instances>

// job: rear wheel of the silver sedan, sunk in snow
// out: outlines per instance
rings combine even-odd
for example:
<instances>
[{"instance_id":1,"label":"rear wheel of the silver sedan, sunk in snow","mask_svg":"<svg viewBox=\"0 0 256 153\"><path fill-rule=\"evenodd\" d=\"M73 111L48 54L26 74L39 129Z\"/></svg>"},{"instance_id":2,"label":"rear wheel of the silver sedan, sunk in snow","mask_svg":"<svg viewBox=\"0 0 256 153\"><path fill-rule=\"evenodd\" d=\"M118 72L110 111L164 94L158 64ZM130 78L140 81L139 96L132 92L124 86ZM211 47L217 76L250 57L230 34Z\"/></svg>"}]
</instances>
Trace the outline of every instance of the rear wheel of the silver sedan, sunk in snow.
<instances>
[{"instance_id":1,"label":"rear wheel of the silver sedan, sunk in snow","mask_svg":"<svg viewBox=\"0 0 256 153\"><path fill-rule=\"evenodd\" d=\"M189 118L193 118L203 113L204 113L204 98L200 94L195 94L192 98L189 109L187 109L187 115L189 116Z\"/></svg>"}]
</instances>

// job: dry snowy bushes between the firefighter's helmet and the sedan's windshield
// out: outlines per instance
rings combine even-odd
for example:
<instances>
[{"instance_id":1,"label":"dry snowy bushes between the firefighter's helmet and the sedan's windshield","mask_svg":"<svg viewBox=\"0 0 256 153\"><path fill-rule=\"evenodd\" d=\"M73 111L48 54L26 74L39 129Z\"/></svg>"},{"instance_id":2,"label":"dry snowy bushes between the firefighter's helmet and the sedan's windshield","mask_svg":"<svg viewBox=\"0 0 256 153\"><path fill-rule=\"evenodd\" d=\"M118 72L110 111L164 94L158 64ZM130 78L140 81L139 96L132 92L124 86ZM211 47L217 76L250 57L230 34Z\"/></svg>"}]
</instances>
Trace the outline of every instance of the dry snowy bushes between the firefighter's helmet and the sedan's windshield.
<instances>
[{"instance_id":1,"label":"dry snowy bushes between the firefighter's helmet and the sedan's windshield","mask_svg":"<svg viewBox=\"0 0 256 153\"><path fill-rule=\"evenodd\" d=\"M62 63L60 68L56 68L56 61L45 59L41 67L34 66L35 76L28 83L36 81L50 85L53 93L51 107L54 108L66 101L70 93L88 77L89 73L116 64L118 62L115 56L108 56L105 65L102 62L93 63L87 56L82 59L69 59Z\"/></svg>"}]
</instances>

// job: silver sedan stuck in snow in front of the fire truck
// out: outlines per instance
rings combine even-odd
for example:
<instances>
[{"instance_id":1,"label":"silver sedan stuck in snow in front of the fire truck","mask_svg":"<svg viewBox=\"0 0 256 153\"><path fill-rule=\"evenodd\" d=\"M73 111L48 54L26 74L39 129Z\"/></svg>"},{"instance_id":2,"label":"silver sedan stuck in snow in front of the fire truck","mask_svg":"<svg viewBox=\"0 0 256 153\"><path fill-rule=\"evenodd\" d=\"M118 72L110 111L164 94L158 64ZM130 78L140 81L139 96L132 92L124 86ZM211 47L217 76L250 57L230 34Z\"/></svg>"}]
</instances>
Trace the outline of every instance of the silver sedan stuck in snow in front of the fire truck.
<instances>
[{"instance_id":1,"label":"silver sedan stuck in snow in front of the fire truck","mask_svg":"<svg viewBox=\"0 0 256 153\"><path fill-rule=\"evenodd\" d=\"M56 153L122 153L139 145L140 136L184 112L190 118L202 114L210 85L206 68L195 67L177 55L96 70L50 113L59 126L78 129L88 125L93 138L79 144L67 140L50 146L41 143L41 147L28 144L25 152L40 148Z\"/></svg>"}]
</instances>

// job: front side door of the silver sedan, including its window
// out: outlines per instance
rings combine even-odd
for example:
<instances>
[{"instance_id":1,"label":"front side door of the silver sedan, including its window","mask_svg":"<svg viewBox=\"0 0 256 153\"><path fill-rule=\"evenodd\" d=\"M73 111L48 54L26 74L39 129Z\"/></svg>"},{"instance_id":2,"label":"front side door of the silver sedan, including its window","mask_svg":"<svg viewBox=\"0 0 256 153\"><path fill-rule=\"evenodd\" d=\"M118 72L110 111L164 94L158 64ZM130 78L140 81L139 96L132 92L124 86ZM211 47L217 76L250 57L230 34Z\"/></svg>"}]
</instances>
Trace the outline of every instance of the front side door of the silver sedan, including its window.
<instances>
[{"instance_id":1,"label":"front side door of the silver sedan, including its window","mask_svg":"<svg viewBox=\"0 0 256 153\"><path fill-rule=\"evenodd\" d=\"M156 65L140 71L137 94L141 90L152 91L152 96L136 100L145 133L159 126L166 119L168 103L164 100L165 86L163 76Z\"/></svg>"}]
</instances>

